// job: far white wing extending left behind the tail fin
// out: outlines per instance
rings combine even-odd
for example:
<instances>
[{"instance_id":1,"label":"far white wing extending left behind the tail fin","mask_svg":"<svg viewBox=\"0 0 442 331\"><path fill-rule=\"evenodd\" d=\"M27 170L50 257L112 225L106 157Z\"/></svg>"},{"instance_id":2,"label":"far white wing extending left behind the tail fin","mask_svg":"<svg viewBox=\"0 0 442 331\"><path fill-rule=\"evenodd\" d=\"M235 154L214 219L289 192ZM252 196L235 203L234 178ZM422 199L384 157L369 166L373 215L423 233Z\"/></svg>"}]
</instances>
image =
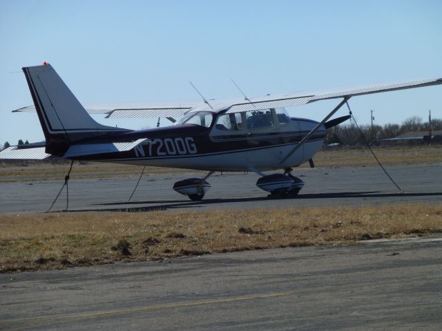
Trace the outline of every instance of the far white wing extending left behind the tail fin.
<instances>
[{"instance_id":1,"label":"far white wing extending left behind the tail fin","mask_svg":"<svg viewBox=\"0 0 442 331\"><path fill-rule=\"evenodd\" d=\"M176 118L201 102L185 103L90 103L84 108L89 114L106 114L106 119L122 118ZM26 106L12 112L35 112L35 106Z\"/></svg>"}]
</instances>

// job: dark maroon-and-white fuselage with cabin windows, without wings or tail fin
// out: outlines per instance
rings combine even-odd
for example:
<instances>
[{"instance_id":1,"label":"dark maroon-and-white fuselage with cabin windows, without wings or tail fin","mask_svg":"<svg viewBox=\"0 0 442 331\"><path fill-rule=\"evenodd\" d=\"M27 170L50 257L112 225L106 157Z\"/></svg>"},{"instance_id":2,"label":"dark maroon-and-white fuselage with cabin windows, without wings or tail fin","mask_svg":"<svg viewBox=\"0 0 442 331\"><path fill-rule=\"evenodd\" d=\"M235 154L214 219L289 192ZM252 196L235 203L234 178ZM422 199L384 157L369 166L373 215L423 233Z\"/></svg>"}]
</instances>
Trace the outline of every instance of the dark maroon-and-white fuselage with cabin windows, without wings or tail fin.
<instances>
[{"instance_id":1,"label":"dark maroon-and-white fuselage with cabin windows, without wings or tail fin","mask_svg":"<svg viewBox=\"0 0 442 331\"><path fill-rule=\"evenodd\" d=\"M94 141L146 139L133 150L75 159L209 171L290 168L311 159L321 148L324 127L282 162L316 124L310 119L289 118L285 111L275 109L248 117L245 112L195 112L173 126L113 134Z\"/></svg>"}]
</instances>

